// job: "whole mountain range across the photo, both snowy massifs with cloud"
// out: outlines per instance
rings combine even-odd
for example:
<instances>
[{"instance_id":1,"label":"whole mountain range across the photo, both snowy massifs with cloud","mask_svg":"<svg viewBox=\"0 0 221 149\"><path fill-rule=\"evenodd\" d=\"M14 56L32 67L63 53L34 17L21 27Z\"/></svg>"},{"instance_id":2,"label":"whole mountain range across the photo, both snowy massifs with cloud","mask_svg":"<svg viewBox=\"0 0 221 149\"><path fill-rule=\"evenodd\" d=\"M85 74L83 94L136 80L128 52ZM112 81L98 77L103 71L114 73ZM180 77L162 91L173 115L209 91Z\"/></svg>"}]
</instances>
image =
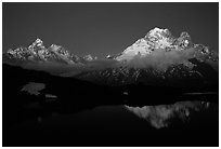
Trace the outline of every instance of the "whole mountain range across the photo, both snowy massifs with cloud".
<instances>
[{"instance_id":1,"label":"whole mountain range across the photo, both snowy massifs with cloud","mask_svg":"<svg viewBox=\"0 0 221 149\"><path fill-rule=\"evenodd\" d=\"M204 86L217 84L219 79L217 52L203 44L194 44L187 32L174 38L168 29L160 28L150 30L121 53L105 58L91 55L79 57L61 45L46 48L37 39L28 48L8 50L3 53L3 63L18 66L37 64L39 67L50 63L77 67L77 71L66 70L58 76L105 85L142 83Z\"/></svg>"}]
</instances>

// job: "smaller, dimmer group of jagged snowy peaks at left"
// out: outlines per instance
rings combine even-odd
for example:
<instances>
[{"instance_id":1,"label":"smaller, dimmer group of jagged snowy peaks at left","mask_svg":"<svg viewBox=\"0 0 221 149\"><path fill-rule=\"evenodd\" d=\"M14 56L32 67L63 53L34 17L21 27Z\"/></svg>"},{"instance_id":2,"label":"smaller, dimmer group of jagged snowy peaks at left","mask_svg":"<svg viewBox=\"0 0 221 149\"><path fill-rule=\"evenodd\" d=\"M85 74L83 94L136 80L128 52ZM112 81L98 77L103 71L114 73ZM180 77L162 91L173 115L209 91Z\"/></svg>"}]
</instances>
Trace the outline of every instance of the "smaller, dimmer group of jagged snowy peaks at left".
<instances>
[{"instance_id":1,"label":"smaller, dimmer group of jagged snowy peaks at left","mask_svg":"<svg viewBox=\"0 0 221 149\"><path fill-rule=\"evenodd\" d=\"M87 60L92 60L93 57L91 55L87 55L84 57L79 57L68 52L61 45L52 44L50 48L46 48L43 45L43 41L41 39L37 39L28 48L17 48L15 50L9 50L4 53L4 57L10 60L16 62L32 62L32 63L46 63L46 62L56 62L62 64L83 64Z\"/></svg>"}]
</instances>

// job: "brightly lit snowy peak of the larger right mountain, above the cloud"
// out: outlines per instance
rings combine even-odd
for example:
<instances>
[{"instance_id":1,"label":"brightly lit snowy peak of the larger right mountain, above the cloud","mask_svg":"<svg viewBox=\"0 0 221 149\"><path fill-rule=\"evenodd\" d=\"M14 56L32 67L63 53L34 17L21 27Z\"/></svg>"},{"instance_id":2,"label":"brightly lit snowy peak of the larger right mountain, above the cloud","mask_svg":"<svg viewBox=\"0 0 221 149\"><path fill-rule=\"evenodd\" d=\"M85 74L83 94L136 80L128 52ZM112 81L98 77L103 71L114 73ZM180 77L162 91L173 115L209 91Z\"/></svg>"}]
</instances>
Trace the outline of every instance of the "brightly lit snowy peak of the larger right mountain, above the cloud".
<instances>
[{"instance_id":1,"label":"brightly lit snowy peak of the larger right mountain, above the cloud","mask_svg":"<svg viewBox=\"0 0 221 149\"><path fill-rule=\"evenodd\" d=\"M117 60L130 60L134 56L146 56L155 50L184 50L192 45L191 37L187 32L182 32L179 38L174 38L169 29L155 27L150 30L144 38L139 39L132 45L128 46Z\"/></svg>"}]
</instances>

